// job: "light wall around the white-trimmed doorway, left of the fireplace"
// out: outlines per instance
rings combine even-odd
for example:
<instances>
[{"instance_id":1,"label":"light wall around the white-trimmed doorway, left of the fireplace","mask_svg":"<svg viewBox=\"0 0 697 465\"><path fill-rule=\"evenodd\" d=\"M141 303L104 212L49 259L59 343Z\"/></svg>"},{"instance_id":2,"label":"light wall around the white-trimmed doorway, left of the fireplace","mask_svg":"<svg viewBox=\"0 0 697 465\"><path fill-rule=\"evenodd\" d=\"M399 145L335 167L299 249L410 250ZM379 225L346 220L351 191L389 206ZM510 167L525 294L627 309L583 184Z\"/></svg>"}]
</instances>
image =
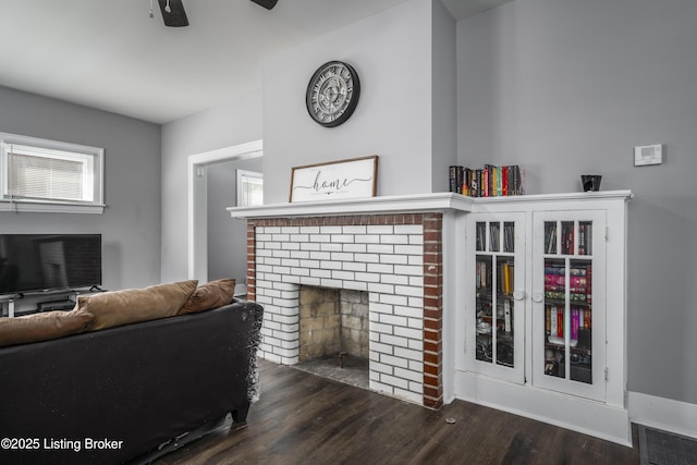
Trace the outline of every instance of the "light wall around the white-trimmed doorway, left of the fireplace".
<instances>
[{"instance_id":1,"label":"light wall around the white-trimmed doorway, left of the fireplace","mask_svg":"<svg viewBox=\"0 0 697 465\"><path fill-rule=\"evenodd\" d=\"M260 138L259 94L162 126L162 282L187 278L188 157Z\"/></svg>"}]
</instances>

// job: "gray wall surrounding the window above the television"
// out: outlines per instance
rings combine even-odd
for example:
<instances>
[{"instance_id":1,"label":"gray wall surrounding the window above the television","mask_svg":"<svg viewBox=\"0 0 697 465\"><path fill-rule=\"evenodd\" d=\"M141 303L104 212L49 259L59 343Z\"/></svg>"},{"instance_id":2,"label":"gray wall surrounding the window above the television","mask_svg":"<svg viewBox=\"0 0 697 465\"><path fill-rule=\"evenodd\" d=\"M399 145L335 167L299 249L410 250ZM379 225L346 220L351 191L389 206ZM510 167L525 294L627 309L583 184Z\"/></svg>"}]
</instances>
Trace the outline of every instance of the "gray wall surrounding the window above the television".
<instances>
[{"instance_id":1,"label":"gray wall surrounding the window above the television","mask_svg":"<svg viewBox=\"0 0 697 465\"><path fill-rule=\"evenodd\" d=\"M103 215L0 212L0 232L101 233L103 286L160 282L160 127L0 87L0 132L105 148Z\"/></svg>"}]
</instances>

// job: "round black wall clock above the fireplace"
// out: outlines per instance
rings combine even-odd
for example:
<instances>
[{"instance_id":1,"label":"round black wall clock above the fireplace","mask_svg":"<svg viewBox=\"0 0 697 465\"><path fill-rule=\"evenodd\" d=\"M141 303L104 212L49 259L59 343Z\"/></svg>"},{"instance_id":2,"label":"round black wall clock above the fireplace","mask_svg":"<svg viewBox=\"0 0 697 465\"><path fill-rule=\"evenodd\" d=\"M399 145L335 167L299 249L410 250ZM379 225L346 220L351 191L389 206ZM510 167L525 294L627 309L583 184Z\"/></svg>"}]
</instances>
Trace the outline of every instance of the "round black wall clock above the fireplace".
<instances>
[{"instance_id":1,"label":"round black wall clock above the fireplace","mask_svg":"<svg viewBox=\"0 0 697 465\"><path fill-rule=\"evenodd\" d=\"M342 61L330 61L309 79L305 103L313 120L325 127L335 127L351 118L359 96L356 70Z\"/></svg>"}]
</instances>

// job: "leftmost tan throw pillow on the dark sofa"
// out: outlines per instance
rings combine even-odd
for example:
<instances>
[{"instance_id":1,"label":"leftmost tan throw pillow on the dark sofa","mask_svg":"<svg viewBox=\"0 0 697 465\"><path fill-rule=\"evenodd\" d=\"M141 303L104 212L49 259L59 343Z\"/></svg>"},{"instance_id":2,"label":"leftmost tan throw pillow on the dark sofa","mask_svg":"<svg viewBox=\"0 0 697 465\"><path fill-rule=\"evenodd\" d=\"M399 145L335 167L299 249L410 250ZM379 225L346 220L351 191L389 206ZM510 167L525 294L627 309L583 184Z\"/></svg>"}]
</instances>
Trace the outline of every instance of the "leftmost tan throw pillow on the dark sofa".
<instances>
[{"instance_id":1,"label":"leftmost tan throw pillow on the dark sofa","mask_svg":"<svg viewBox=\"0 0 697 465\"><path fill-rule=\"evenodd\" d=\"M93 319L94 315L80 309L0 318L0 347L83 332Z\"/></svg>"}]
</instances>

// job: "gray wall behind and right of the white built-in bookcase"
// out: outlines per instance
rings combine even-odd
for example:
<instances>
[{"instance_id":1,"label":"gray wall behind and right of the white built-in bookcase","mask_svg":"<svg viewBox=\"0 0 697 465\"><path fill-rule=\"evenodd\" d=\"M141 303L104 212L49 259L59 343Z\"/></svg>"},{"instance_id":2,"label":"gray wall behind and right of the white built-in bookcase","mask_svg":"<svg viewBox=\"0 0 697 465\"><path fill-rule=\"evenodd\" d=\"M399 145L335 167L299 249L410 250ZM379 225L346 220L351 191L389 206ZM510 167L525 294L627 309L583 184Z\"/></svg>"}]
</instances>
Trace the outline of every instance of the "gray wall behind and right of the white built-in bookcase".
<instances>
[{"instance_id":1,"label":"gray wall behind and right of the white built-in bookcase","mask_svg":"<svg viewBox=\"0 0 697 465\"><path fill-rule=\"evenodd\" d=\"M457 24L458 160L629 188L628 389L697 403L697 2L514 0ZM633 147L665 144L635 168ZM612 309L610 309L612 311Z\"/></svg>"}]
</instances>

